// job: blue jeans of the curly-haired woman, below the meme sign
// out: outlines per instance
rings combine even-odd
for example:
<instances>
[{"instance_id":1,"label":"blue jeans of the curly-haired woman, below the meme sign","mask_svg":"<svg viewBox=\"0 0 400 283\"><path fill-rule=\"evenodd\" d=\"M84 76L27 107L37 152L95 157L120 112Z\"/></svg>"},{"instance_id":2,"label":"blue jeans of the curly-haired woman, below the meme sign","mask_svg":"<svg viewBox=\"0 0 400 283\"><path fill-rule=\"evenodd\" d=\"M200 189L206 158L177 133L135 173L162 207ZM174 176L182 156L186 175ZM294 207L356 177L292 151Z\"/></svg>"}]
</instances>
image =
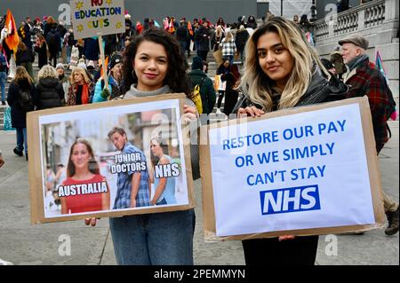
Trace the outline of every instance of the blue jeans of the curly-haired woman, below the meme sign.
<instances>
[{"instance_id":1,"label":"blue jeans of the curly-haired woman, below the meme sign","mask_svg":"<svg viewBox=\"0 0 400 283\"><path fill-rule=\"evenodd\" d=\"M109 218L116 263L193 265L195 210Z\"/></svg>"}]
</instances>

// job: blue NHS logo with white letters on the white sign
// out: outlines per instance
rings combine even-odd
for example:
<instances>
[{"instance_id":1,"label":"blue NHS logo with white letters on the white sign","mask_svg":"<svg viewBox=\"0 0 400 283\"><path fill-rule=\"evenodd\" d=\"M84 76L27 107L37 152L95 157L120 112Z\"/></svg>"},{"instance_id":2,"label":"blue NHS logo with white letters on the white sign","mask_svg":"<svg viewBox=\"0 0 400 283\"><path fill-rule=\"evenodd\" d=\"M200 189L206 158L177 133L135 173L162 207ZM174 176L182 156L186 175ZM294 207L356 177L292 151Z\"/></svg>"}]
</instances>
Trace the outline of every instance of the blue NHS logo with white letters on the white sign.
<instances>
[{"instance_id":1,"label":"blue NHS logo with white letters on the white sign","mask_svg":"<svg viewBox=\"0 0 400 283\"><path fill-rule=\"evenodd\" d=\"M260 200L262 215L321 209L318 185L260 192Z\"/></svg>"}]
</instances>

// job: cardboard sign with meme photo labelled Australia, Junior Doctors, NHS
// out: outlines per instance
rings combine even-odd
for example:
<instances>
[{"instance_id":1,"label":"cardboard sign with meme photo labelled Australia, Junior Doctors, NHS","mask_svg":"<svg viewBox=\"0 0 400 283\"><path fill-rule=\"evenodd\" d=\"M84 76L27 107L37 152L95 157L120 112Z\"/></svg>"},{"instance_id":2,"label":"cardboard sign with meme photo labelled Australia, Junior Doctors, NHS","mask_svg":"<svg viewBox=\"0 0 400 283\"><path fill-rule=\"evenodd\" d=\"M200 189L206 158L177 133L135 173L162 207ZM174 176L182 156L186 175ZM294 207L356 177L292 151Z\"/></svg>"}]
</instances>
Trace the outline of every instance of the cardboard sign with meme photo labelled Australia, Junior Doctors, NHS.
<instances>
[{"instance_id":1,"label":"cardboard sign with meme photo labelled Australia, Junior Doctors, NHS","mask_svg":"<svg viewBox=\"0 0 400 283\"><path fill-rule=\"evenodd\" d=\"M184 98L28 113L32 224L193 208Z\"/></svg>"}]
</instances>

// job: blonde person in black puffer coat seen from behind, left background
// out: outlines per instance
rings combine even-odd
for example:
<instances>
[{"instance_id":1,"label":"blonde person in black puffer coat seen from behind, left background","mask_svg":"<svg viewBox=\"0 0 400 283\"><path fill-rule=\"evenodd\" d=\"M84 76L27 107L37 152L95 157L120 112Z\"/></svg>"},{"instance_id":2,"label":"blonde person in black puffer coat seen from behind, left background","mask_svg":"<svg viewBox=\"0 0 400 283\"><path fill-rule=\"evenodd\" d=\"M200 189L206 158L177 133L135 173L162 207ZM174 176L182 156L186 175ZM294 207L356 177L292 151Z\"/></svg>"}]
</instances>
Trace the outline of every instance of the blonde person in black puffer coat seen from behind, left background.
<instances>
[{"instance_id":1,"label":"blonde person in black puffer coat seen from behind, left background","mask_svg":"<svg viewBox=\"0 0 400 283\"><path fill-rule=\"evenodd\" d=\"M35 105L37 110L63 106L64 89L54 67L45 65L37 75Z\"/></svg>"}]
</instances>

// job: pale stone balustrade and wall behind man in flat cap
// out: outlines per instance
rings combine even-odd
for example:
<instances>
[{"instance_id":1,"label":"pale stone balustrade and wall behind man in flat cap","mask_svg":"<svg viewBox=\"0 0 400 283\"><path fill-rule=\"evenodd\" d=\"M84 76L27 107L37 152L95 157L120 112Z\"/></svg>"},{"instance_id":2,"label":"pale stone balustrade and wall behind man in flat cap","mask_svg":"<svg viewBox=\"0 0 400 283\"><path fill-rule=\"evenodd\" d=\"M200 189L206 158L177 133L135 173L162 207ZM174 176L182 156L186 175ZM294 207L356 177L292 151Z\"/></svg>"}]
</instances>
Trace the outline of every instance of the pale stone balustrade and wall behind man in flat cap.
<instances>
[{"instance_id":1,"label":"pale stone balustrade and wall behind man in flat cap","mask_svg":"<svg viewBox=\"0 0 400 283\"><path fill-rule=\"evenodd\" d=\"M374 0L345 12L328 13L324 19L313 23L316 51L321 57L328 58L340 39L363 35L369 41L367 54L372 61L376 51L380 51L390 88L398 98L399 6L398 0Z\"/></svg>"}]
</instances>

